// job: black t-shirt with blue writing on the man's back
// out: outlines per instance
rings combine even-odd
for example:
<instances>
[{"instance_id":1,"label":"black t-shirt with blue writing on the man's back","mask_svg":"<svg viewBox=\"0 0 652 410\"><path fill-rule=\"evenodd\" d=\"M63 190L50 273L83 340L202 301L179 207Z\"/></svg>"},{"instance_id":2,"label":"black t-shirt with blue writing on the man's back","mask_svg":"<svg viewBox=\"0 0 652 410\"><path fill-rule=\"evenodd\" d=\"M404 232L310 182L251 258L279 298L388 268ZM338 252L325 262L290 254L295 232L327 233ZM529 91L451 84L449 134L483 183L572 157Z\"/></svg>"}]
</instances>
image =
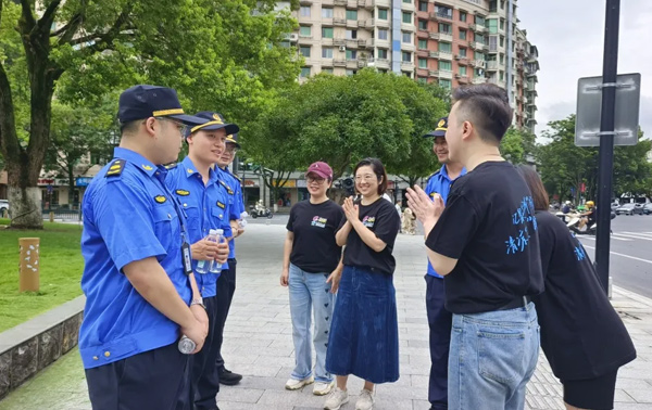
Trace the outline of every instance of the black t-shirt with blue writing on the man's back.
<instances>
[{"instance_id":1,"label":"black t-shirt with blue writing on the man's back","mask_svg":"<svg viewBox=\"0 0 652 410\"><path fill-rule=\"evenodd\" d=\"M453 313L497 310L543 291L529 188L507 162L488 162L453 182L426 246L457 259L444 277Z\"/></svg>"}]
</instances>

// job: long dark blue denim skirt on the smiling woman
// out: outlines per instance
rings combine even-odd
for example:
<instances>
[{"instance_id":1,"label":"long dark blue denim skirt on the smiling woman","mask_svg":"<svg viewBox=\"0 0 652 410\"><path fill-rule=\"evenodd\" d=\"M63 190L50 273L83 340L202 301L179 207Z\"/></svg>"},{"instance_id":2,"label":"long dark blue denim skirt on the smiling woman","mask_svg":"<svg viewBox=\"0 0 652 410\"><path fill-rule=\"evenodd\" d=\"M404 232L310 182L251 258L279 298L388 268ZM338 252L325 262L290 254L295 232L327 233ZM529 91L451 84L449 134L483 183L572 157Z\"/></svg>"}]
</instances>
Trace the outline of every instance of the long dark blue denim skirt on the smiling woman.
<instances>
[{"instance_id":1,"label":"long dark blue denim skirt on the smiling woman","mask_svg":"<svg viewBox=\"0 0 652 410\"><path fill-rule=\"evenodd\" d=\"M372 383L399 380L399 324L392 276L344 266L330 324L326 370Z\"/></svg>"}]
</instances>

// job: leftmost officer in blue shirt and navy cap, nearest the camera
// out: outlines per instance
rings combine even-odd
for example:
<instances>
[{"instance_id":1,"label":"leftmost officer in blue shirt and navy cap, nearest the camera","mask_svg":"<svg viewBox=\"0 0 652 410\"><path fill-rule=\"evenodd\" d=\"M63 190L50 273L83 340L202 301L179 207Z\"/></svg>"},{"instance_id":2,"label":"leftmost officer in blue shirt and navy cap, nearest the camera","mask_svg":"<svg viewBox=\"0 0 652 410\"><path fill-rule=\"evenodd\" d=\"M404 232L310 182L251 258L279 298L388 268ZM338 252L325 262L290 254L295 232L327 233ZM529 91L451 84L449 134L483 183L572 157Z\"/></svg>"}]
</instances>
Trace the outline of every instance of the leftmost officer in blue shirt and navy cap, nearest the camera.
<instances>
[{"instance_id":1,"label":"leftmost officer in blue shirt and navy cap, nearest the camera","mask_svg":"<svg viewBox=\"0 0 652 410\"><path fill-rule=\"evenodd\" d=\"M185 213L161 164L176 159L181 133L203 120L184 115L176 92L135 86L120 98L114 159L83 202L86 295L79 354L93 409L185 409L188 356L202 348L208 318L190 266ZM216 254L226 260L226 247Z\"/></svg>"}]
</instances>

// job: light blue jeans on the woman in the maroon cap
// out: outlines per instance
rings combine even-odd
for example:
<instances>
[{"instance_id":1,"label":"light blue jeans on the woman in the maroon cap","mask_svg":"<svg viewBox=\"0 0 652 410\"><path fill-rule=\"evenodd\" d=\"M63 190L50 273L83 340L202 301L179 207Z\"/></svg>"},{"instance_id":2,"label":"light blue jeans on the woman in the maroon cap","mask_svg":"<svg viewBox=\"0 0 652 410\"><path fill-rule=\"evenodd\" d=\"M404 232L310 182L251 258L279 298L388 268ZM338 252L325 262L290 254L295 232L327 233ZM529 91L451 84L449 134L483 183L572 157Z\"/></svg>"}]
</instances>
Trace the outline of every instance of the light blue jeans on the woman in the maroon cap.
<instances>
[{"instance_id":1,"label":"light blue jeans on the woman in the maroon cap","mask_svg":"<svg viewBox=\"0 0 652 410\"><path fill-rule=\"evenodd\" d=\"M297 366L292 379L303 380L312 375L312 343L316 351L315 380L330 383L333 375L326 371L326 349L328 332L333 321L335 295L326 283L328 273L310 273L290 264L288 287L290 293L290 316L292 317L292 339ZM314 315L314 337L311 337ZM311 343L312 338L312 343Z\"/></svg>"}]
</instances>

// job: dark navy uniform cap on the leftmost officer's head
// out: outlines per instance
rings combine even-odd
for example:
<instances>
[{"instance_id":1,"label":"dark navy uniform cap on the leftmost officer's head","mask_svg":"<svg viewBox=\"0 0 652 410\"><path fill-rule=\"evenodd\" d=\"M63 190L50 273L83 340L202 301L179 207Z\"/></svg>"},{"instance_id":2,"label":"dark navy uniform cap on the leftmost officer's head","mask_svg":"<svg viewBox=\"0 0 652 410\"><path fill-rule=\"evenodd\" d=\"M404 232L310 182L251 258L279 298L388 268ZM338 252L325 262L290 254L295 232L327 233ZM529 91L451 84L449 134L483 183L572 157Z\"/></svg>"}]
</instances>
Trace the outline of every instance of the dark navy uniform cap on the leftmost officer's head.
<instances>
[{"instance_id":1,"label":"dark navy uniform cap on the leftmost officer's head","mask_svg":"<svg viewBox=\"0 0 652 410\"><path fill-rule=\"evenodd\" d=\"M120 95L117 119L122 124L149 117L173 118L189 126L205 121L184 114L177 93L172 88L140 85Z\"/></svg>"}]
</instances>

